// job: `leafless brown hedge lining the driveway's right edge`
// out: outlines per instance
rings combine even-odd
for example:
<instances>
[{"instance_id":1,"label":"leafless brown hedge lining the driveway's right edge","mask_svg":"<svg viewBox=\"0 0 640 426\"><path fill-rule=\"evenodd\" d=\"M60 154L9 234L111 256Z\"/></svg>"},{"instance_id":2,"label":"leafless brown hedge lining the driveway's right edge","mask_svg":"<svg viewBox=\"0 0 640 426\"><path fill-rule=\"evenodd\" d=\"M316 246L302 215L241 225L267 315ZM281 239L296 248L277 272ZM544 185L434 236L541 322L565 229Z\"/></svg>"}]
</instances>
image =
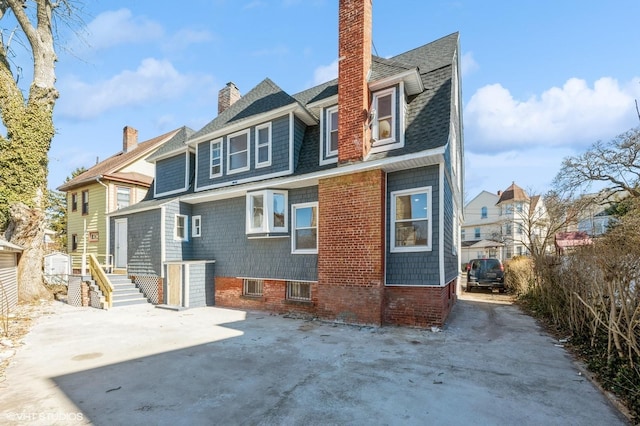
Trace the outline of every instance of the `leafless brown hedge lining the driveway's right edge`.
<instances>
[{"instance_id":1,"label":"leafless brown hedge lining the driveway's right edge","mask_svg":"<svg viewBox=\"0 0 640 426\"><path fill-rule=\"evenodd\" d=\"M526 276L509 264L508 279L512 269L514 277ZM635 206L591 246L565 256L537 258L531 273L533 285L518 293L521 299L556 330L571 336L603 385L624 398L638 416L640 208Z\"/></svg>"}]
</instances>

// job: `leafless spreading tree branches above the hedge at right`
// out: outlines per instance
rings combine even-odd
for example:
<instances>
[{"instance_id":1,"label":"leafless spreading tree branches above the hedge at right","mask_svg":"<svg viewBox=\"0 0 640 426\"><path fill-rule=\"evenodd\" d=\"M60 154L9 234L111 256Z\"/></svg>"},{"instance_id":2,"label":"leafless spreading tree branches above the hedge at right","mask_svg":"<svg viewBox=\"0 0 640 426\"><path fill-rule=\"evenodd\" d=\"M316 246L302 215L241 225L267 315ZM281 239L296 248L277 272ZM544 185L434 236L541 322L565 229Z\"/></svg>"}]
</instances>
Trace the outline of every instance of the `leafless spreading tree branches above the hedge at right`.
<instances>
[{"instance_id":1,"label":"leafless spreading tree branches above the hedge at right","mask_svg":"<svg viewBox=\"0 0 640 426\"><path fill-rule=\"evenodd\" d=\"M640 197L640 128L622 133L609 142L598 141L585 153L567 157L554 179L561 192L588 190L595 182L607 184L610 192Z\"/></svg>"}]
</instances>

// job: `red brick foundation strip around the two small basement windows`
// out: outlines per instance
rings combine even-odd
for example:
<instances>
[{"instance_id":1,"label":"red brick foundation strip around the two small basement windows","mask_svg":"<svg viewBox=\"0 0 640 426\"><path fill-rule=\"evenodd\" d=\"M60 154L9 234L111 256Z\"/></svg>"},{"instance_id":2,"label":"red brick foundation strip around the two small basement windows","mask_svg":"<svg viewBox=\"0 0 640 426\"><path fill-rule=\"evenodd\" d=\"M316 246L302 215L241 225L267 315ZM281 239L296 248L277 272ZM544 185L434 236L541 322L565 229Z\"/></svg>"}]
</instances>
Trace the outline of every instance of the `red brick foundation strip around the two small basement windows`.
<instances>
[{"instance_id":1,"label":"red brick foundation strip around the two small basement windows","mask_svg":"<svg viewBox=\"0 0 640 426\"><path fill-rule=\"evenodd\" d=\"M241 278L216 277L215 305L224 308L260 310L276 313L315 315L318 285L311 284L311 302L287 300L287 283L283 280L263 280L262 297L242 295Z\"/></svg>"}]
</instances>

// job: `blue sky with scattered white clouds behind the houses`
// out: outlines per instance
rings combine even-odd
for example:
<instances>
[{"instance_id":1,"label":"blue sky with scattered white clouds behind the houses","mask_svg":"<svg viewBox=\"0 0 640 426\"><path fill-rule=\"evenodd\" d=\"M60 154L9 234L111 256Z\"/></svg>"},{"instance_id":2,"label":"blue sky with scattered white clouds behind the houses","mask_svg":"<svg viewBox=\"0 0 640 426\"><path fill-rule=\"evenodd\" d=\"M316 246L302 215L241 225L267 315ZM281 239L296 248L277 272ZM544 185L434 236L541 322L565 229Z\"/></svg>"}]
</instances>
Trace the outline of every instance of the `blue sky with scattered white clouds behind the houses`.
<instances>
[{"instance_id":1,"label":"blue sky with scattered white clouds behind the houses","mask_svg":"<svg viewBox=\"0 0 640 426\"><path fill-rule=\"evenodd\" d=\"M229 81L294 94L337 74L337 0L85 3L86 26L60 33L51 188L121 150L125 125L200 129ZM466 200L544 193L564 157L640 124L639 17L637 0L375 0L374 53L459 31Z\"/></svg>"}]
</instances>

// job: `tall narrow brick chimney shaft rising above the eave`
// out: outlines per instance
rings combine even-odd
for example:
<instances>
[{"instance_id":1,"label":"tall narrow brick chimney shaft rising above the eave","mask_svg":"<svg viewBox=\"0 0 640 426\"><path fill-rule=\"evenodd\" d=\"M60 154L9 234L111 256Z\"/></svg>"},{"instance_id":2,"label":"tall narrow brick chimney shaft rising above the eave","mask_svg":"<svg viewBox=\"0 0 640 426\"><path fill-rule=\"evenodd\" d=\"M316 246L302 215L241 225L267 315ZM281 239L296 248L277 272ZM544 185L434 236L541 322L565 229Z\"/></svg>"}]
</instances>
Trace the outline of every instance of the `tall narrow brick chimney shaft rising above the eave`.
<instances>
[{"instance_id":1,"label":"tall narrow brick chimney shaft rising above the eave","mask_svg":"<svg viewBox=\"0 0 640 426\"><path fill-rule=\"evenodd\" d=\"M340 0L338 12L338 162L360 161L368 127L372 0Z\"/></svg>"}]
</instances>

